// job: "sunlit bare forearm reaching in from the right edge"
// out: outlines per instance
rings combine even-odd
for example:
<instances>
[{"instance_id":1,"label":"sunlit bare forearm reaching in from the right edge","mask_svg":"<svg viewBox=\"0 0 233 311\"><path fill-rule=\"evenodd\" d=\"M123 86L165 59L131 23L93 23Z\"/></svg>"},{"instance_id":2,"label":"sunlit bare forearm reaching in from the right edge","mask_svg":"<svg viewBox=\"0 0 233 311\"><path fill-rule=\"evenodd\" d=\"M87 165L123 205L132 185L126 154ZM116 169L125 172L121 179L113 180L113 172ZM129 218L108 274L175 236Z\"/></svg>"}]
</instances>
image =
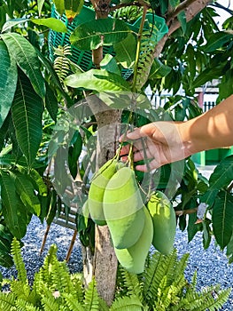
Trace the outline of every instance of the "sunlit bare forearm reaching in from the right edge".
<instances>
[{"instance_id":1,"label":"sunlit bare forearm reaching in from the right edge","mask_svg":"<svg viewBox=\"0 0 233 311\"><path fill-rule=\"evenodd\" d=\"M180 124L179 132L190 154L233 145L233 95L205 114Z\"/></svg>"}]
</instances>

